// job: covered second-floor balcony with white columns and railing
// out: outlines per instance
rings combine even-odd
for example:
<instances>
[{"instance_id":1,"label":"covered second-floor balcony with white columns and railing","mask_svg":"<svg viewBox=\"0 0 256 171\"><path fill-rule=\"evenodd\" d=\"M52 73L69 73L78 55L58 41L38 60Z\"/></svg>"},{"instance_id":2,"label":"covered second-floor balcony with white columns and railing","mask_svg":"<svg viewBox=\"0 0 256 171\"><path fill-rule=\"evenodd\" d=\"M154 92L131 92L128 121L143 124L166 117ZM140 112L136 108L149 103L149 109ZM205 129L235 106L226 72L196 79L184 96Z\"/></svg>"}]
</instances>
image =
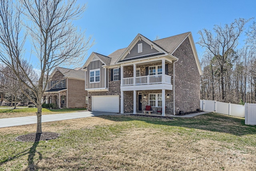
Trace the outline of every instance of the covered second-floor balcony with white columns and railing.
<instances>
[{"instance_id":1,"label":"covered second-floor balcony with white columns and railing","mask_svg":"<svg viewBox=\"0 0 256 171\"><path fill-rule=\"evenodd\" d=\"M172 90L172 63L155 60L145 63L121 65L121 90Z\"/></svg>"}]
</instances>

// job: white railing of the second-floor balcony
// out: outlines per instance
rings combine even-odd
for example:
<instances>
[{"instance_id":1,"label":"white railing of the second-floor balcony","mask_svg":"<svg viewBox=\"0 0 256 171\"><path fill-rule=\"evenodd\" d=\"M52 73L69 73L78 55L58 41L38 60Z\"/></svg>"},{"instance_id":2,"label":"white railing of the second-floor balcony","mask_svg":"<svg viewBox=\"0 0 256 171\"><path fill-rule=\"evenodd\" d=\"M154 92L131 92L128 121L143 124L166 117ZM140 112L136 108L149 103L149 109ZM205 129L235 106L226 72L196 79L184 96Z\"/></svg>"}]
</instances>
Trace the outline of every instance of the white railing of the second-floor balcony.
<instances>
[{"instance_id":1,"label":"white railing of the second-floor balcony","mask_svg":"<svg viewBox=\"0 0 256 171\"><path fill-rule=\"evenodd\" d=\"M159 84L166 83L171 84L171 76L165 75L164 81L162 80L162 75L153 76L140 76L135 78L136 82L133 84L133 77L123 78L123 85L143 85L143 84Z\"/></svg>"}]
</instances>

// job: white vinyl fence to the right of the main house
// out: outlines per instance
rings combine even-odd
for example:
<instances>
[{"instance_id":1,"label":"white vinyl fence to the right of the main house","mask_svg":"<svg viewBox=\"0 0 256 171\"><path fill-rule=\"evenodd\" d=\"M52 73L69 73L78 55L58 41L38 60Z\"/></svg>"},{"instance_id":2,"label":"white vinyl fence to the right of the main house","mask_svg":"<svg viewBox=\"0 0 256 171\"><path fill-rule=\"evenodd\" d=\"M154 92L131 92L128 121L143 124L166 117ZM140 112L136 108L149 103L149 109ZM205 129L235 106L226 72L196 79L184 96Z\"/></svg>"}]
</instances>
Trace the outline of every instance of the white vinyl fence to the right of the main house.
<instances>
[{"instance_id":1,"label":"white vinyl fence to the right of the main house","mask_svg":"<svg viewBox=\"0 0 256 171\"><path fill-rule=\"evenodd\" d=\"M245 103L244 105L238 105L214 100L200 100L200 109L224 115L245 117L246 125L256 125L256 104Z\"/></svg>"}]
</instances>

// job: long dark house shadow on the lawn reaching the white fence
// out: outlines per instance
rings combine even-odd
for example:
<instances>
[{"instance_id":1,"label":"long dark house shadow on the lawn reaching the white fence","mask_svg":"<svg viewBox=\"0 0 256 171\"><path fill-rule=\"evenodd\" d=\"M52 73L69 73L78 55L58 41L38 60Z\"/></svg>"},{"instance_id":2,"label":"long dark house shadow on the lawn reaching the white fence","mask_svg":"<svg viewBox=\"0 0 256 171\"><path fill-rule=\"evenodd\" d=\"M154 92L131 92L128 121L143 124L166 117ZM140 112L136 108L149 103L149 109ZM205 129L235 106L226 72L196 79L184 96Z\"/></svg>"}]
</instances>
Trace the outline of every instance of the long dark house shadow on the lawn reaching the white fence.
<instances>
[{"instance_id":1,"label":"long dark house shadow on the lawn reaching the white fence","mask_svg":"<svg viewBox=\"0 0 256 171\"><path fill-rule=\"evenodd\" d=\"M98 117L112 121L143 121L155 125L202 129L205 131L230 133L237 136L256 134L256 126L245 125L244 119L218 113L207 113L190 118L174 117L173 120L136 115L103 115Z\"/></svg>"}]
</instances>

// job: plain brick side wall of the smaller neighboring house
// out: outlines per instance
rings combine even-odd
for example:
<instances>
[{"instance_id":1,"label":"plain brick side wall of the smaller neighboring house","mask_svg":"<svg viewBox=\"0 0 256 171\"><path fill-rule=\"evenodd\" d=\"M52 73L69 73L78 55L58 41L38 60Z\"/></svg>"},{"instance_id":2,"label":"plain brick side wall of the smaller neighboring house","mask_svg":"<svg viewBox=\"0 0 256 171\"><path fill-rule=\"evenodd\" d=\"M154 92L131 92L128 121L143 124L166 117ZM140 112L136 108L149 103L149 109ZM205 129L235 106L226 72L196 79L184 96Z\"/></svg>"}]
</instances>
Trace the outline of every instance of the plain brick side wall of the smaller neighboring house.
<instances>
[{"instance_id":1,"label":"plain brick side wall of the smaller neighboring house","mask_svg":"<svg viewBox=\"0 0 256 171\"><path fill-rule=\"evenodd\" d=\"M84 80L68 78L68 108L86 108L85 97L87 91L84 90Z\"/></svg>"}]
</instances>

